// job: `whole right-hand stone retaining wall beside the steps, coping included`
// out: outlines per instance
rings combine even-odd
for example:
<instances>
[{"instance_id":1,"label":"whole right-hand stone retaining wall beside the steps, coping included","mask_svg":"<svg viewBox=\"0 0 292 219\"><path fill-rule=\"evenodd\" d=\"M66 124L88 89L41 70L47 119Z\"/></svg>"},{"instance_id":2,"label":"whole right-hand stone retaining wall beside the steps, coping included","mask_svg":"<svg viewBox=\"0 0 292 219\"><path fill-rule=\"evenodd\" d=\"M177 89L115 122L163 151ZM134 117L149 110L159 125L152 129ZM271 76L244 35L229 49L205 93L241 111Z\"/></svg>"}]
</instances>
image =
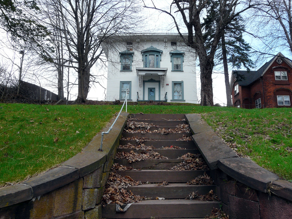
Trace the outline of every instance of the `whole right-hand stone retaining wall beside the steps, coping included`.
<instances>
[{"instance_id":1,"label":"whole right-hand stone retaining wall beside the steps, coping included","mask_svg":"<svg viewBox=\"0 0 292 219\"><path fill-rule=\"evenodd\" d=\"M239 158L198 114L186 114L186 119L230 219L292 218L291 182Z\"/></svg>"}]
</instances>

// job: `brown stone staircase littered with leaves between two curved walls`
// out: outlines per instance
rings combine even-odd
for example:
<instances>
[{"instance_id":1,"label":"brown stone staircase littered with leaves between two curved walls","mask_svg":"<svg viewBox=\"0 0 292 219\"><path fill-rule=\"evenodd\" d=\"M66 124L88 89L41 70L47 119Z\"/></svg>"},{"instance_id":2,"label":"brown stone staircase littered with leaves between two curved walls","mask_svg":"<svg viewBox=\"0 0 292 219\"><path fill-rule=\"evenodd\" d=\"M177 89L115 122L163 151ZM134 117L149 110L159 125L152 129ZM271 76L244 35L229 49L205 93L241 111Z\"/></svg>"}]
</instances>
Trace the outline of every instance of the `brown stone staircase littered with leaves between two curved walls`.
<instances>
[{"instance_id":1,"label":"brown stone staircase littered with leaves between two curved walls","mask_svg":"<svg viewBox=\"0 0 292 219\"><path fill-rule=\"evenodd\" d=\"M175 129L179 124L187 124L184 114L132 114L131 121L153 123L156 127L150 130L162 128ZM147 128L139 128L146 130ZM137 130L137 128L135 128ZM139 162L129 163L127 159L115 159L114 163L130 166L141 171L114 171L121 176L130 176L135 181L148 182L148 184L131 186L127 189L134 195L151 197L146 200L132 204L124 213L116 213L116 204L106 204L102 210L102 218L203 218L210 214L213 207L220 208L220 202L186 200L185 198L192 192L199 195L207 194L211 189L216 191L214 185L188 185L186 182L203 175L209 170L169 170L173 166L183 161L180 159L186 153L199 154L193 141L176 141L184 136L191 136L192 133L128 133L123 132L122 139L127 138L147 138L151 140L143 141L144 145L153 146L160 155L169 159L148 159ZM138 140L139 141L139 140ZM137 140L120 140L120 145L137 145ZM184 149L161 149L162 147L178 146ZM129 152L134 150L141 153L143 150L117 149L117 152ZM167 181L167 186L155 186L162 181ZM165 200L157 200L156 197L163 197Z\"/></svg>"}]
</instances>

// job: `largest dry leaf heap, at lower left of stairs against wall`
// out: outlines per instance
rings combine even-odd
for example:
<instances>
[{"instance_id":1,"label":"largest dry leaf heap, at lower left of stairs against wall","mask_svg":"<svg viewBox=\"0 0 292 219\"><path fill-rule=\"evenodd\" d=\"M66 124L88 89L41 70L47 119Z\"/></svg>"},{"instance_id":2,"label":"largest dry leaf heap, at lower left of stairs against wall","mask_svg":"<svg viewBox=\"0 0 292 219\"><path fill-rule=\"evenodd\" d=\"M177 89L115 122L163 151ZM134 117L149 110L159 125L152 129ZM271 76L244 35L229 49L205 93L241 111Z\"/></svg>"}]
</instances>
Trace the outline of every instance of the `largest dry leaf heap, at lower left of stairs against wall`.
<instances>
[{"instance_id":1,"label":"largest dry leaf heap, at lower left of stairs against wall","mask_svg":"<svg viewBox=\"0 0 292 219\"><path fill-rule=\"evenodd\" d=\"M128 186L137 186L140 184L142 184L141 181L134 181L129 176L121 177L119 174L110 172L109 179L107 180L106 188L103 193L103 207L105 207L106 203L123 205L125 203L147 200L144 196L136 196L131 191L126 189Z\"/></svg>"}]
</instances>

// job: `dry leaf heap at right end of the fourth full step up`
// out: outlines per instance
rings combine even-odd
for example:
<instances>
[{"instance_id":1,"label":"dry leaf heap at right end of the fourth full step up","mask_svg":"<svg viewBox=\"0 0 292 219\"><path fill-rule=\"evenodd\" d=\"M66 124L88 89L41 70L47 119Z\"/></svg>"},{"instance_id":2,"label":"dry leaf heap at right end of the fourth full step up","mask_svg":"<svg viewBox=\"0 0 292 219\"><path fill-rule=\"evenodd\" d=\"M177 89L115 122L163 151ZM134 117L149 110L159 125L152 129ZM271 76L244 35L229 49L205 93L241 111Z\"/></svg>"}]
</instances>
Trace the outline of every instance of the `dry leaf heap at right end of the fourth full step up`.
<instances>
[{"instance_id":1,"label":"dry leaf heap at right end of the fourth full step up","mask_svg":"<svg viewBox=\"0 0 292 219\"><path fill-rule=\"evenodd\" d=\"M209 167L201 154L187 153L180 157L183 162L170 168L170 170L208 170Z\"/></svg>"}]
</instances>

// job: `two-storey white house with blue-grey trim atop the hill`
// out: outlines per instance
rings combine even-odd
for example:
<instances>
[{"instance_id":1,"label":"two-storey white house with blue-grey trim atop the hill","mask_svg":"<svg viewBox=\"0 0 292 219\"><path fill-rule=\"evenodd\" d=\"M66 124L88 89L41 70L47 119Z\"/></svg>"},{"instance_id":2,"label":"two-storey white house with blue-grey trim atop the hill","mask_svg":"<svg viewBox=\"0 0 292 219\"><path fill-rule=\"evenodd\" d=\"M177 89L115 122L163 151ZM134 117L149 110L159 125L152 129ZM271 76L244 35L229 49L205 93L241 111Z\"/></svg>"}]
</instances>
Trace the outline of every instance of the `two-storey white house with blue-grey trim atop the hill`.
<instances>
[{"instance_id":1,"label":"two-storey white house with blue-grey trim atop the hill","mask_svg":"<svg viewBox=\"0 0 292 219\"><path fill-rule=\"evenodd\" d=\"M177 34L113 36L103 43L108 60L106 99L197 103L196 53Z\"/></svg>"}]
</instances>

